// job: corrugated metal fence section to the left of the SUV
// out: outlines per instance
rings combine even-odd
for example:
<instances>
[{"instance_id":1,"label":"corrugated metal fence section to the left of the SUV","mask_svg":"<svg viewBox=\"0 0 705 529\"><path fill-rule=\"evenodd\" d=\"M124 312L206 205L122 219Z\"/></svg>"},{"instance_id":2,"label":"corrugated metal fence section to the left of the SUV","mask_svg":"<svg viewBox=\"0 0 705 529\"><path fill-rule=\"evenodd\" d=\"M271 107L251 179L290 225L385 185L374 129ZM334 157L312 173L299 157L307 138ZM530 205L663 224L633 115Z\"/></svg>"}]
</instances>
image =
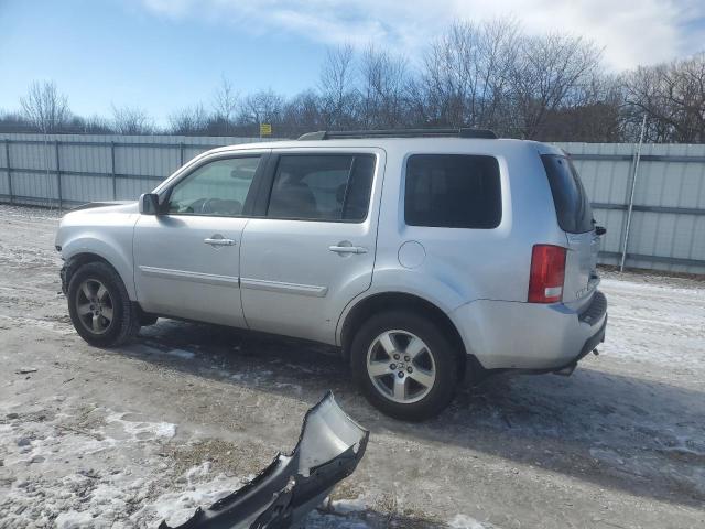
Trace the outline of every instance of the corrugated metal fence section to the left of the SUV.
<instances>
[{"instance_id":1,"label":"corrugated metal fence section to the left of the SUV","mask_svg":"<svg viewBox=\"0 0 705 529\"><path fill-rule=\"evenodd\" d=\"M70 207L134 199L195 155L253 138L0 134L0 201Z\"/></svg>"}]
</instances>

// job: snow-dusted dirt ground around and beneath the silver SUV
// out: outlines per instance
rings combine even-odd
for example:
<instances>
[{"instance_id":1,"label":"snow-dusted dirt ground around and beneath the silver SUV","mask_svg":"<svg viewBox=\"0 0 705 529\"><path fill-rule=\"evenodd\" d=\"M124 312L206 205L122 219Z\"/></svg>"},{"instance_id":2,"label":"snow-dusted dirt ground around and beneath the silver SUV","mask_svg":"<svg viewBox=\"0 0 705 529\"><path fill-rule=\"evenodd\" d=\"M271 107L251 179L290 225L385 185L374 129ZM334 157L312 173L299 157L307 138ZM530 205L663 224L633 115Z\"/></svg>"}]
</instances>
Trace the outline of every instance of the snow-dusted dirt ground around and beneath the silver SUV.
<instances>
[{"instance_id":1,"label":"snow-dusted dirt ground around and beneath the silver SUV","mask_svg":"<svg viewBox=\"0 0 705 529\"><path fill-rule=\"evenodd\" d=\"M306 527L705 527L704 282L607 273L599 357L406 424L323 347L161 320L89 347L58 294L57 219L0 206L1 528L183 520L291 450L326 389L371 436Z\"/></svg>"}]
</instances>

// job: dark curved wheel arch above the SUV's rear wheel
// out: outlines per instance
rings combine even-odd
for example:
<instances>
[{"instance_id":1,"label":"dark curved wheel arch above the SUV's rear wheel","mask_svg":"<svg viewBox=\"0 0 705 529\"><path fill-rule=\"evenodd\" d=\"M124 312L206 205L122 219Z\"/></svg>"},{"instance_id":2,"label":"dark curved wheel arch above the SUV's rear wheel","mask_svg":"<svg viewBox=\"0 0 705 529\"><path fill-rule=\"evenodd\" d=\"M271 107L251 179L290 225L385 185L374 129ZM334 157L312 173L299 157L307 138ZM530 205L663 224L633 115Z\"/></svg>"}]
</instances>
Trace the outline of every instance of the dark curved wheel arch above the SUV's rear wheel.
<instances>
[{"instance_id":1,"label":"dark curved wheel arch above the SUV's rear wheel","mask_svg":"<svg viewBox=\"0 0 705 529\"><path fill-rule=\"evenodd\" d=\"M463 337L453 321L435 303L406 292L375 293L359 300L347 311L340 326L339 335L339 344L346 359L350 357L350 345L352 343L355 330L359 328L360 325L362 325L362 323L372 315L392 310L413 311L429 317L444 330L444 332L447 333L447 336L451 337L451 341L458 353L458 379L460 380L465 377L466 364L468 361L467 349L463 342Z\"/></svg>"}]
</instances>

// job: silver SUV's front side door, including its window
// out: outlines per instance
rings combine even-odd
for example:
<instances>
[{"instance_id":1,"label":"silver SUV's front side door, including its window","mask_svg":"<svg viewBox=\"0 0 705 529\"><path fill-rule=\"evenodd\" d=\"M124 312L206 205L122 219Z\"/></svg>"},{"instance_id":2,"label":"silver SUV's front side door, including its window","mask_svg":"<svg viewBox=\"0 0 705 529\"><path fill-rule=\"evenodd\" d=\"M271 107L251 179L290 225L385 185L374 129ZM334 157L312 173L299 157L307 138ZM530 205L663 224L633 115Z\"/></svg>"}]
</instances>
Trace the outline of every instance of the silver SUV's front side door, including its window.
<instances>
[{"instance_id":1,"label":"silver SUV's front side door, including its window","mask_svg":"<svg viewBox=\"0 0 705 529\"><path fill-rule=\"evenodd\" d=\"M242 229L264 153L207 160L161 194L134 227L134 283L147 312L245 327Z\"/></svg>"}]
</instances>

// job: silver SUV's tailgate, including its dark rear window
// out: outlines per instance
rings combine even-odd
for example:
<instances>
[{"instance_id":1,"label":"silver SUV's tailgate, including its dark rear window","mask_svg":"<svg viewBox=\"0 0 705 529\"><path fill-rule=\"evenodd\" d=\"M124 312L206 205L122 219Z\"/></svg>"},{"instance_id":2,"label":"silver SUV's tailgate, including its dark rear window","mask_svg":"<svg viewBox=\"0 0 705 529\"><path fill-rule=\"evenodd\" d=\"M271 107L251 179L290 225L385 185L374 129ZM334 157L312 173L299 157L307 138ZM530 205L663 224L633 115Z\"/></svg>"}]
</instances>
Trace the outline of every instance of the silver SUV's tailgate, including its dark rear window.
<instances>
[{"instance_id":1,"label":"silver SUV's tailgate, including its dark rear window","mask_svg":"<svg viewBox=\"0 0 705 529\"><path fill-rule=\"evenodd\" d=\"M595 233L593 208L571 160L558 154L542 154L558 226L567 238L563 302L579 309L592 298L599 283L597 255L599 236Z\"/></svg>"}]
</instances>

